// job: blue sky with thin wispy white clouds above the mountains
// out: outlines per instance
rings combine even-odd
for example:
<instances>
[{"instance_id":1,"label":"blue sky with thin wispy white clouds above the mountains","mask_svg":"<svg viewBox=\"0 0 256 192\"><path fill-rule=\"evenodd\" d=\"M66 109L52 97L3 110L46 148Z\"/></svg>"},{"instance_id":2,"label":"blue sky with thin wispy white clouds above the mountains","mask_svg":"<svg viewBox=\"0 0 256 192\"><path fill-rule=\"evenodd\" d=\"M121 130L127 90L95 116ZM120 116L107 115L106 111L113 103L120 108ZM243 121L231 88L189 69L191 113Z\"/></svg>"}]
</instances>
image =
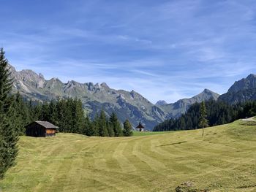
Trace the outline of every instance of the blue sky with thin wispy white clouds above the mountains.
<instances>
[{"instance_id":1,"label":"blue sky with thin wispy white clouds above the mountains","mask_svg":"<svg viewBox=\"0 0 256 192\"><path fill-rule=\"evenodd\" d=\"M151 102L256 73L256 1L1 1L10 64L63 82L107 82Z\"/></svg>"}]
</instances>

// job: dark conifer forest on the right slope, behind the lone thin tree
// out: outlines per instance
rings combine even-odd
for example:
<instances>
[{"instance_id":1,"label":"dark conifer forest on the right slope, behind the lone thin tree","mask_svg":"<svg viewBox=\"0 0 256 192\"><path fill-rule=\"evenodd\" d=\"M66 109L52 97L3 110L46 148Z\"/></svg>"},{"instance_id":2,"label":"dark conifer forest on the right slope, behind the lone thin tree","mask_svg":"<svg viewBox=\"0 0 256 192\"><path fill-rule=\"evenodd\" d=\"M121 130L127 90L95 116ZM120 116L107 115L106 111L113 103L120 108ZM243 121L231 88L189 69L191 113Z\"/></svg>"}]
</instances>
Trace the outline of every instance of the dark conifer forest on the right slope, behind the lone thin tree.
<instances>
[{"instance_id":1,"label":"dark conifer forest on the right slope, behind the lone thin tree","mask_svg":"<svg viewBox=\"0 0 256 192\"><path fill-rule=\"evenodd\" d=\"M230 105L223 101L206 101L204 102L207 112L203 115L208 123L204 126L217 126L234 120L256 115L256 101L246 101L244 103ZM154 127L153 131L177 131L203 128L200 123L200 103L192 104L184 115L180 118L170 118Z\"/></svg>"}]
</instances>

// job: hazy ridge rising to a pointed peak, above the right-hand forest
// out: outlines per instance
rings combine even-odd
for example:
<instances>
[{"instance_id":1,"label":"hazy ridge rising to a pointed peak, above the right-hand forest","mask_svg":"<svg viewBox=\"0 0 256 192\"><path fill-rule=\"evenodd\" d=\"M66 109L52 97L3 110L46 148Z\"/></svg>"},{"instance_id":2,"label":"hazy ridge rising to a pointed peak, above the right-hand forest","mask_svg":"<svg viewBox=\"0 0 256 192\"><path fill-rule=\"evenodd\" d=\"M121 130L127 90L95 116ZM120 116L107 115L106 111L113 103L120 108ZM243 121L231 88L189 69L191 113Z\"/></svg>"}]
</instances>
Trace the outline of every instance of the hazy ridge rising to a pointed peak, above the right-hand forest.
<instances>
[{"instance_id":1,"label":"hazy ridge rising to a pointed peak, above the right-hand forest","mask_svg":"<svg viewBox=\"0 0 256 192\"><path fill-rule=\"evenodd\" d=\"M177 102L173 104L165 104L159 106L164 112L167 113L167 117L169 118L178 118L181 114L184 114L187 112L189 107L191 107L192 104L200 103L202 101L208 101L208 100L217 100L219 97L218 93L214 93L213 91L210 91L208 89L205 89L202 93L199 93L196 96L193 96L190 99L180 99Z\"/></svg>"}]
</instances>

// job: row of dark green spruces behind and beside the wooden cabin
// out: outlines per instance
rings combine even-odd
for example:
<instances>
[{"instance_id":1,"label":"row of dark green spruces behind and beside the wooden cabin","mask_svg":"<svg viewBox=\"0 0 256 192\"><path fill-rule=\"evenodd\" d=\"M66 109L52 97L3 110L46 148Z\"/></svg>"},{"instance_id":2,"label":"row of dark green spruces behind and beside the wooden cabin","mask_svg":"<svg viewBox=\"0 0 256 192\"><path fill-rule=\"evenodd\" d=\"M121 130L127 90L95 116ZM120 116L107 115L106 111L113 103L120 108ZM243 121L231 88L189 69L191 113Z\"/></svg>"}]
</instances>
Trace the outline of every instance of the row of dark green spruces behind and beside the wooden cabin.
<instances>
[{"instance_id":1,"label":"row of dark green spruces behind and beside the wooden cabin","mask_svg":"<svg viewBox=\"0 0 256 192\"><path fill-rule=\"evenodd\" d=\"M13 109L19 114L19 134L24 127L35 120L45 120L59 127L60 132L85 134L99 137L121 137L123 131L115 113L110 118L102 110L94 120L85 115L80 99L59 99L45 103L23 101L20 94L15 95Z\"/></svg>"}]
</instances>

